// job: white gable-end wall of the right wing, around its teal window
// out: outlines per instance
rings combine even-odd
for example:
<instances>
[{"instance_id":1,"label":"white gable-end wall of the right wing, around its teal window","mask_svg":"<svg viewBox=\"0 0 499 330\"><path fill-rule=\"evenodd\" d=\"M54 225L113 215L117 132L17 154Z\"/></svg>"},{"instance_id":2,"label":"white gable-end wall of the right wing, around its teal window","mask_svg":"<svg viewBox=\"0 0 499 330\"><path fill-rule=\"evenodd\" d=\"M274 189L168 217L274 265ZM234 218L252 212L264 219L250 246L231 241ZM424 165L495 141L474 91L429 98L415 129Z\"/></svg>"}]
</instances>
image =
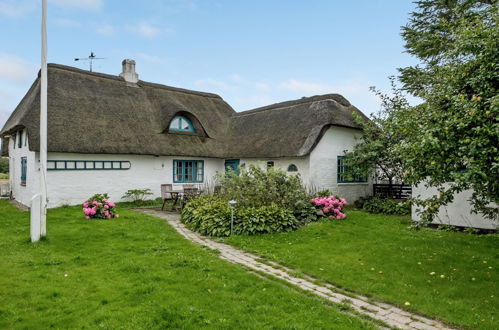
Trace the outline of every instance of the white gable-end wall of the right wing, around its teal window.
<instances>
[{"instance_id":1,"label":"white gable-end wall of the right wing, around its teal window","mask_svg":"<svg viewBox=\"0 0 499 330\"><path fill-rule=\"evenodd\" d=\"M348 203L372 194L372 178L366 183L338 183L338 156L352 151L362 132L352 128L331 126L310 153L309 182L317 190L330 189Z\"/></svg>"}]
</instances>

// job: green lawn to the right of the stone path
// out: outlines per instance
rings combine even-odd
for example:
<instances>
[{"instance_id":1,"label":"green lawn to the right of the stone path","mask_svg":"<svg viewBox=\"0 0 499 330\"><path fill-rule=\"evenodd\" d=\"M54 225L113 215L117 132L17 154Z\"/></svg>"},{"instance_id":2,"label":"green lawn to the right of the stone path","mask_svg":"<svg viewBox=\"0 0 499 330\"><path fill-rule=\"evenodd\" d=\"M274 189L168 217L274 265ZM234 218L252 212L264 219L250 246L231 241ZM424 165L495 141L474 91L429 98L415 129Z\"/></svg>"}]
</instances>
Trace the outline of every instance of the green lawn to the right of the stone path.
<instances>
[{"instance_id":1,"label":"green lawn to the right of the stone path","mask_svg":"<svg viewBox=\"0 0 499 330\"><path fill-rule=\"evenodd\" d=\"M499 235L414 231L408 226L408 217L350 211L346 221L224 240L450 324L497 329Z\"/></svg>"}]
</instances>

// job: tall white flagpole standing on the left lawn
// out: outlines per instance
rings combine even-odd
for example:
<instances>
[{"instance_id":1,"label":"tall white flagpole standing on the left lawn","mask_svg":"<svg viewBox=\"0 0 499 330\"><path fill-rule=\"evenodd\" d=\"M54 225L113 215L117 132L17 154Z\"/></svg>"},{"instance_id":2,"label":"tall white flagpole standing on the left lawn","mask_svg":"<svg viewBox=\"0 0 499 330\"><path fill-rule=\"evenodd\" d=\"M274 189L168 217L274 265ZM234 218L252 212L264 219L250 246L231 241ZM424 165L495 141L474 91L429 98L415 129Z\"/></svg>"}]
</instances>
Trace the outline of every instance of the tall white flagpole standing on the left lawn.
<instances>
[{"instance_id":1,"label":"tall white flagpole standing on the left lawn","mask_svg":"<svg viewBox=\"0 0 499 330\"><path fill-rule=\"evenodd\" d=\"M42 0L40 87L40 236L47 235L47 0Z\"/></svg>"}]
</instances>

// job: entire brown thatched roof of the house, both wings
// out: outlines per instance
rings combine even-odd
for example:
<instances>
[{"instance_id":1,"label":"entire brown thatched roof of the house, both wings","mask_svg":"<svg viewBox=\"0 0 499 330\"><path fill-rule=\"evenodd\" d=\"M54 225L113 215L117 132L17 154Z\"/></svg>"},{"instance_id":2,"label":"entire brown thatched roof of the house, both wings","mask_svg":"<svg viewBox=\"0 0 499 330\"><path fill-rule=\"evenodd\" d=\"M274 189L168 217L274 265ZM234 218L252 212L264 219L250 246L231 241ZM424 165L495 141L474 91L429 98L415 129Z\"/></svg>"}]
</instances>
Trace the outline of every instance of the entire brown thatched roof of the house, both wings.
<instances>
[{"instance_id":1,"label":"entire brown thatched roof of the house, both wings","mask_svg":"<svg viewBox=\"0 0 499 330\"><path fill-rule=\"evenodd\" d=\"M27 128L39 149L40 79L5 123L0 136ZM220 96L73 67L48 66L48 151L197 157L284 157L308 154L330 125L359 128L355 107L328 94L236 113ZM177 114L195 134L168 133Z\"/></svg>"}]
</instances>

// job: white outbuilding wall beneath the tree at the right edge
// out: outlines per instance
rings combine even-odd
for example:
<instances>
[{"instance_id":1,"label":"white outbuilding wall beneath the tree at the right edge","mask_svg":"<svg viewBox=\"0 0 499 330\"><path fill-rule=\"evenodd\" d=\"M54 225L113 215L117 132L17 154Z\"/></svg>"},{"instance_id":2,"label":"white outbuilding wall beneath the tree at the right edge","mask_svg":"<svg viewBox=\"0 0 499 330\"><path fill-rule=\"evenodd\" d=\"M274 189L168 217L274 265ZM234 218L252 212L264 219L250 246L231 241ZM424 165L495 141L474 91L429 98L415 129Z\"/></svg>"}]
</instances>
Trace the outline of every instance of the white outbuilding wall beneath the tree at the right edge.
<instances>
[{"instance_id":1,"label":"white outbuilding wall beneath the tree at the right edge","mask_svg":"<svg viewBox=\"0 0 499 330\"><path fill-rule=\"evenodd\" d=\"M480 214L472 214L471 199L473 191L466 190L454 195L454 201L438 211L435 224L445 224L460 227L474 227L481 229L497 229L497 221L492 221ZM421 199L427 199L438 194L437 188L426 188L424 184L412 187L412 195ZM417 207L412 206L412 220L421 221Z\"/></svg>"}]
</instances>

